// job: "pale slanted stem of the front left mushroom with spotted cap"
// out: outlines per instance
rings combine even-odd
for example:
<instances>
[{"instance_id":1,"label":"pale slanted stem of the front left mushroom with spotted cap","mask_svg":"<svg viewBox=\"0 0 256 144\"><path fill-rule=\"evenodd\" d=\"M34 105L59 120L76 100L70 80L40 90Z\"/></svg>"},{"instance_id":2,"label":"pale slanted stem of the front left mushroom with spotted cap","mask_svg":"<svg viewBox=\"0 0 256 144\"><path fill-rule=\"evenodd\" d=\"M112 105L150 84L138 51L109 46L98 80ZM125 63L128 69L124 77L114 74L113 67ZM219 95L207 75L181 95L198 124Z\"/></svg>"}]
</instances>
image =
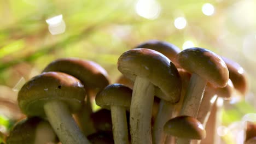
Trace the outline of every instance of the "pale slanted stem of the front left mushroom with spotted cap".
<instances>
[{"instance_id":1,"label":"pale slanted stem of the front left mushroom with spotted cap","mask_svg":"<svg viewBox=\"0 0 256 144\"><path fill-rule=\"evenodd\" d=\"M49 101L44 105L44 112L62 144L90 143L78 128L65 103Z\"/></svg>"}]
</instances>

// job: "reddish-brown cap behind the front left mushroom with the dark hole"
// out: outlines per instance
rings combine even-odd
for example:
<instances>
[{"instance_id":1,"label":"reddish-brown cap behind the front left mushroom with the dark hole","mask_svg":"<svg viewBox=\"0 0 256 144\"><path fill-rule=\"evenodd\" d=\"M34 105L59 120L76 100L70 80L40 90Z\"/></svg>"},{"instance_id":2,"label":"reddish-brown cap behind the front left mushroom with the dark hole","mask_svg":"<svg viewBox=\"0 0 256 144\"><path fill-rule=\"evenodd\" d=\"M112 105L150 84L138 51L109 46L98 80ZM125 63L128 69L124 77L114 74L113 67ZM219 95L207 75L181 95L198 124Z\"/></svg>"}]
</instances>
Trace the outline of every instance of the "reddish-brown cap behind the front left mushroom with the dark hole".
<instances>
[{"instance_id":1,"label":"reddish-brown cap behind the front left mushroom with the dark hole","mask_svg":"<svg viewBox=\"0 0 256 144\"><path fill-rule=\"evenodd\" d=\"M43 72L60 71L76 77L85 88L103 89L109 85L107 71L99 64L78 58L60 58L51 62Z\"/></svg>"}]
</instances>

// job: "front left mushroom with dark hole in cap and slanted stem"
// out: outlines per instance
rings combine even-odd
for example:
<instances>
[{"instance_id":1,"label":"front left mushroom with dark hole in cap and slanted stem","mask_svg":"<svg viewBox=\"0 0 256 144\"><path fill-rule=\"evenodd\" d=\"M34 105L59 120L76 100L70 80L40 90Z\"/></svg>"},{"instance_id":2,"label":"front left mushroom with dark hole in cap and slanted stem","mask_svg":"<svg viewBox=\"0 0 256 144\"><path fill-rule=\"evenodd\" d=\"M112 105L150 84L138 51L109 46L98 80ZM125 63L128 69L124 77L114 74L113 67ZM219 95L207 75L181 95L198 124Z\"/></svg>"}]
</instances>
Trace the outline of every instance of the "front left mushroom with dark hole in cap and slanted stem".
<instances>
[{"instance_id":1,"label":"front left mushroom with dark hole in cap and slanted stem","mask_svg":"<svg viewBox=\"0 0 256 144\"><path fill-rule=\"evenodd\" d=\"M46 116L62 144L89 143L71 115L82 107L85 94L73 76L48 72L22 86L18 103L27 116Z\"/></svg>"}]
</instances>

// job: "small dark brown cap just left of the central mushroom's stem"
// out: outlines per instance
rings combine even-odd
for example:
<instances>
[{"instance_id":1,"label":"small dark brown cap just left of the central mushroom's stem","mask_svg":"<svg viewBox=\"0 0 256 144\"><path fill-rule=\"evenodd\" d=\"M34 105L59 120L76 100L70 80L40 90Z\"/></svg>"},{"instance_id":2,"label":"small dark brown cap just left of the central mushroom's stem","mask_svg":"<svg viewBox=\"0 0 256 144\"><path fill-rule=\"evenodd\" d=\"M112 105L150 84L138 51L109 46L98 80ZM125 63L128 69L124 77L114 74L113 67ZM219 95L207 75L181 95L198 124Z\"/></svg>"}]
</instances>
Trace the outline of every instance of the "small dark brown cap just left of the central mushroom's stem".
<instances>
[{"instance_id":1,"label":"small dark brown cap just left of the central mushroom's stem","mask_svg":"<svg viewBox=\"0 0 256 144\"><path fill-rule=\"evenodd\" d=\"M127 110L130 110L132 97L132 89L114 83L107 86L102 91L98 92L95 98L96 104L110 109L111 105L124 106Z\"/></svg>"}]
</instances>

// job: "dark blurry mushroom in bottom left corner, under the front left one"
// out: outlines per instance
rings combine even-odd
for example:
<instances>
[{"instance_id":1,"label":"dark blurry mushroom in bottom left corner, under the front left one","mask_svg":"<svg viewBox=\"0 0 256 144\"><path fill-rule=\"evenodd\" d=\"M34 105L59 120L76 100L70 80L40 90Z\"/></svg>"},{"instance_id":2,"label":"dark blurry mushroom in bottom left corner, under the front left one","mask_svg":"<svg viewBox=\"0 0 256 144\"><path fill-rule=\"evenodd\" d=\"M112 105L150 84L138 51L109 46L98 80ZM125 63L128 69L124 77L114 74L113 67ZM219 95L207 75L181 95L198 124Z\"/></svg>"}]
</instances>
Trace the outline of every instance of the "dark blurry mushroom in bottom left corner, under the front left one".
<instances>
[{"instance_id":1,"label":"dark blurry mushroom in bottom left corner, under the front left one","mask_svg":"<svg viewBox=\"0 0 256 144\"><path fill-rule=\"evenodd\" d=\"M7 137L7 144L45 144L57 142L49 122L39 117L24 118L14 125Z\"/></svg>"}]
</instances>

